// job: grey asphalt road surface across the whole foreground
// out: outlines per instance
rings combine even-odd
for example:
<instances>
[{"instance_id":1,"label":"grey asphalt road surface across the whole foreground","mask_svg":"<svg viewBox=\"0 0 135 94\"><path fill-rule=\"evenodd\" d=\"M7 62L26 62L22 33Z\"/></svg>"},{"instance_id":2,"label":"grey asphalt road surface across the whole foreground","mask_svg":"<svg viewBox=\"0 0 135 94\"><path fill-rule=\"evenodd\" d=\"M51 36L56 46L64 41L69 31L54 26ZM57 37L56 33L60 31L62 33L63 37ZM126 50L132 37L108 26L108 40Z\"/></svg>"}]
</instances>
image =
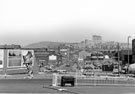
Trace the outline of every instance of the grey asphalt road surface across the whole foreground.
<instances>
[{"instance_id":1,"label":"grey asphalt road surface across the whole foreground","mask_svg":"<svg viewBox=\"0 0 135 94\"><path fill-rule=\"evenodd\" d=\"M52 87L46 79L0 79L0 93L54 93L54 94L134 94L135 87L127 86L75 86ZM58 89L66 89L59 91Z\"/></svg>"}]
</instances>

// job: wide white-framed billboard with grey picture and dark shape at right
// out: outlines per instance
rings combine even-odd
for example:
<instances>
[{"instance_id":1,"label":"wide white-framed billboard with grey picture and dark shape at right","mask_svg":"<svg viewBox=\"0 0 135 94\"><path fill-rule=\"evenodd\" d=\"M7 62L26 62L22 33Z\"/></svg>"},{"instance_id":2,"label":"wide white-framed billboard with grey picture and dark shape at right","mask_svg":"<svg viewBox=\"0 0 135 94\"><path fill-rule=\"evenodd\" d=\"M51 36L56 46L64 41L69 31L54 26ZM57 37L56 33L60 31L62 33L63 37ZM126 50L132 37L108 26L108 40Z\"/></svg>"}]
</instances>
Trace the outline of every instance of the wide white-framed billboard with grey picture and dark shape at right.
<instances>
[{"instance_id":1,"label":"wide white-framed billboard with grey picture and dark shape at right","mask_svg":"<svg viewBox=\"0 0 135 94\"><path fill-rule=\"evenodd\" d=\"M34 52L29 50L8 50L7 67L25 67L24 63L34 63Z\"/></svg>"}]
</instances>

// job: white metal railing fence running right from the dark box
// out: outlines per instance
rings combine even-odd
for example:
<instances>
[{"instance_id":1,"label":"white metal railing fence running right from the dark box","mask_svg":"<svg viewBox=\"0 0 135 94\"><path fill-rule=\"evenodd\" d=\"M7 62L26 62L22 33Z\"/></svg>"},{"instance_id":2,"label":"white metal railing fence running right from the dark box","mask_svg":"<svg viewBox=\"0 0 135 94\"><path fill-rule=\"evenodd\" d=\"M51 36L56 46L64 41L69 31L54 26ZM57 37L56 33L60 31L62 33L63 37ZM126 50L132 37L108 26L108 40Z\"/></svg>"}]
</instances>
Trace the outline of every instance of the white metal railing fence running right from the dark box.
<instances>
[{"instance_id":1,"label":"white metal railing fence running right from the dark box","mask_svg":"<svg viewBox=\"0 0 135 94\"><path fill-rule=\"evenodd\" d=\"M133 77L126 77L126 76L84 76L80 73L74 73L74 74L64 74L64 75L70 75L74 76L76 79L76 86L88 86L88 85L108 85L108 86L135 86L135 78ZM61 76L63 74L57 74L57 85L60 85L61 82Z\"/></svg>"}]
</instances>

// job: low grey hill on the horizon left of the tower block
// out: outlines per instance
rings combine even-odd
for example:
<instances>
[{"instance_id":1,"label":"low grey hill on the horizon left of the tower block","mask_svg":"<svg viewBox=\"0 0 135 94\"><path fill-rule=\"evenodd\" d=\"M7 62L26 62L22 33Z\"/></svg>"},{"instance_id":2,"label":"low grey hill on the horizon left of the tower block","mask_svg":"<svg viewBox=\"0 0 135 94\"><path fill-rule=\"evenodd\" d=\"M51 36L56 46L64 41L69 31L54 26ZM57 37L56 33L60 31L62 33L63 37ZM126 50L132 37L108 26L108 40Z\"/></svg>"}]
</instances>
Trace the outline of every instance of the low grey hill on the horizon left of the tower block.
<instances>
[{"instance_id":1,"label":"low grey hill on the horizon left of the tower block","mask_svg":"<svg viewBox=\"0 0 135 94\"><path fill-rule=\"evenodd\" d=\"M58 47L59 45L63 45L63 44L72 44L72 43L43 41L43 42L32 43L32 44L26 45L24 46L24 48Z\"/></svg>"}]
</instances>

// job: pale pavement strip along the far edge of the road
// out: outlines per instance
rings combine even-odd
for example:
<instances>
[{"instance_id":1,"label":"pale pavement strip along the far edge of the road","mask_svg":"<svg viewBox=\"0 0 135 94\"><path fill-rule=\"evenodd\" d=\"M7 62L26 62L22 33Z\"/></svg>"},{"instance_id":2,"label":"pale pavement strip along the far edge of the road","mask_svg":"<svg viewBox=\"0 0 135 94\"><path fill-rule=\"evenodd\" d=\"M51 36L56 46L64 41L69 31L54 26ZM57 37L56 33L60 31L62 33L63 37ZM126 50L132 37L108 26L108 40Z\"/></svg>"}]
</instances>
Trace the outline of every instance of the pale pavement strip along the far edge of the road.
<instances>
[{"instance_id":1,"label":"pale pavement strip along the far edge of the road","mask_svg":"<svg viewBox=\"0 0 135 94\"><path fill-rule=\"evenodd\" d=\"M77 79L91 79L91 80L121 80L121 81L127 81L127 80L134 80L133 77L126 77L126 76L85 76L80 75L76 73L68 73L68 74L58 74L58 78L60 79L61 76L67 75L67 76L74 76ZM44 78L52 78L52 73L44 73L39 72L38 74L34 74L33 79L44 79ZM0 75L0 79L24 79L24 77L27 77L27 74L12 74L12 75Z\"/></svg>"}]
</instances>

